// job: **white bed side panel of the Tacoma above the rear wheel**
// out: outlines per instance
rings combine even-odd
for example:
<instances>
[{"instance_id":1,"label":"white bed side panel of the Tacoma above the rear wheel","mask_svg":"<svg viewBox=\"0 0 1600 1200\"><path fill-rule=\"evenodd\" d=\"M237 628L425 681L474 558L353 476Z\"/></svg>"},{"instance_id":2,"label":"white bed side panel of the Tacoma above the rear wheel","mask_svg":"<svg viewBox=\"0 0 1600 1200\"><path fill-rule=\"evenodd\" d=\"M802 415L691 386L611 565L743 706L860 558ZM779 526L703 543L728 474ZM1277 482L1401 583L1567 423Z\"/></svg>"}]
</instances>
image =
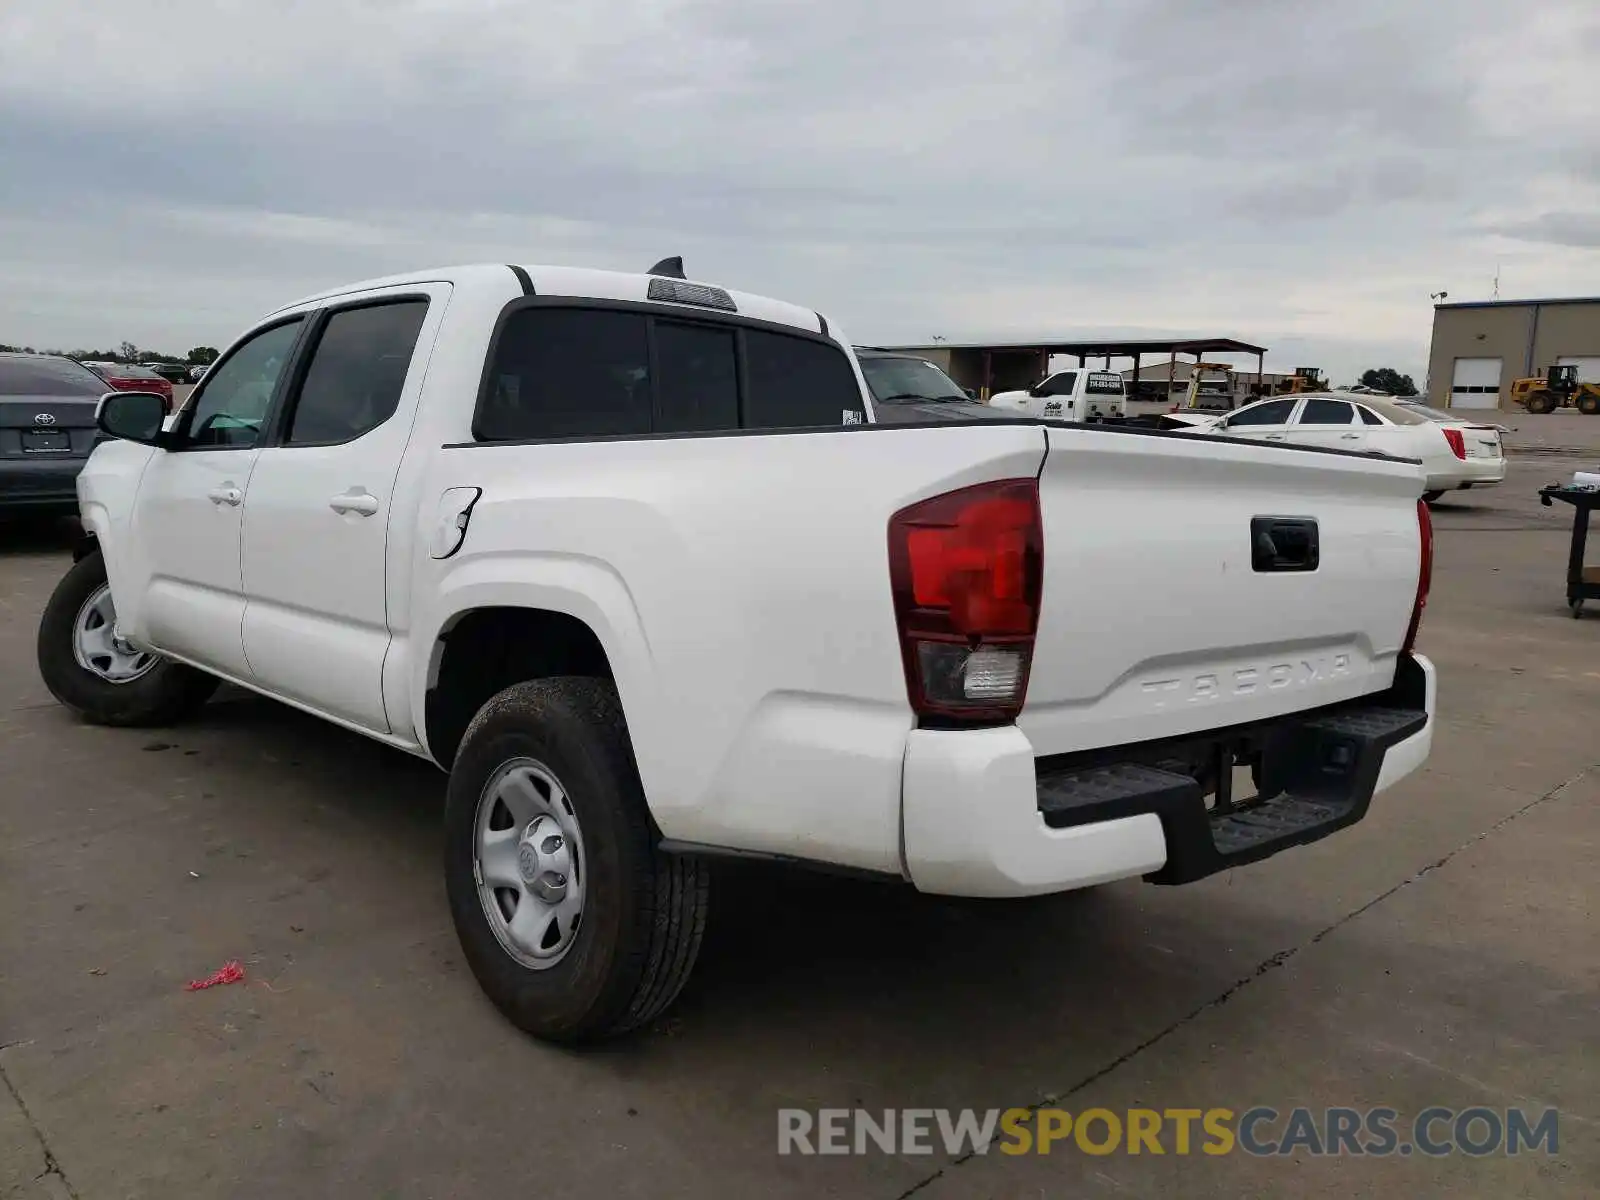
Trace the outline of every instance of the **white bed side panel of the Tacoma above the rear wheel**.
<instances>
[{"instance_id":1,"label":"white bed side panel of the Tacoma above the rear wheel","mask_svg":"<svg viewBox=\"0 0 1600 1200\"><path fill-rule=\"evenodd\" d=\"M454 558L416 558L414 710L454 614L570 613L606 650L667 837L898 872L890 515L1043 451L1032 426L446 448L426 494L483 496Z\"/></svg>"}]
</instances>

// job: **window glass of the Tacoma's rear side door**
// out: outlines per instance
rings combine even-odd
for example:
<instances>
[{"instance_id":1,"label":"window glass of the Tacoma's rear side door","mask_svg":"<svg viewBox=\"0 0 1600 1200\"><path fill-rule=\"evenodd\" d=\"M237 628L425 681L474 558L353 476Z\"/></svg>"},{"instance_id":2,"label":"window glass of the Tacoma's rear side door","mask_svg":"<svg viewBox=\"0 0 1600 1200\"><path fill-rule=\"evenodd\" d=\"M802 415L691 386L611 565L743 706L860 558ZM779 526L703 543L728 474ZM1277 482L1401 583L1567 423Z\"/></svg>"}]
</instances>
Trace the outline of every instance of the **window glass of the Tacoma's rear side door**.
<instances>
[{"instance_id":1,"label":"window glass of the Tacoma's rear side door","mask_svg":"<svg viewBox=\"0 0 1600 1200\"><path fill-rule=\"evenodd\" d=\"M328 317L290 418L288 445L352 442L400 403L427 301L346 309Z\"/></svg>"}]
</instances>

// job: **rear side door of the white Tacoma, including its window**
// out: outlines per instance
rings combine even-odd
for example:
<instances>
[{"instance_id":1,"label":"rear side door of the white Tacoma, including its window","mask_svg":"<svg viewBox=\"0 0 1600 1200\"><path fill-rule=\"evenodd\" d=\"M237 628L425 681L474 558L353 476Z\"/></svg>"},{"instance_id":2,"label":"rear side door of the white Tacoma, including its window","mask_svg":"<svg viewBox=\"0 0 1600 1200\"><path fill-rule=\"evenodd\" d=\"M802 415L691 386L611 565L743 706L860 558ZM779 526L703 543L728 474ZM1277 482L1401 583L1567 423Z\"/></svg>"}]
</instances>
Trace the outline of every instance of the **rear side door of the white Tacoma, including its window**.
<instances>
[{"instance_id":1,"label":"rear side door of the white Tacoma, including its window","mask_svg":"<svg viewBox=\"0 0 1600 1200\"><path fill-rule=\"evenodd\" d=\"M446 296L413 286L318 315L302 381L250 480L243 642L254 678L376 733L390 731L390 504Z\"/></svg>"}]
</instances>

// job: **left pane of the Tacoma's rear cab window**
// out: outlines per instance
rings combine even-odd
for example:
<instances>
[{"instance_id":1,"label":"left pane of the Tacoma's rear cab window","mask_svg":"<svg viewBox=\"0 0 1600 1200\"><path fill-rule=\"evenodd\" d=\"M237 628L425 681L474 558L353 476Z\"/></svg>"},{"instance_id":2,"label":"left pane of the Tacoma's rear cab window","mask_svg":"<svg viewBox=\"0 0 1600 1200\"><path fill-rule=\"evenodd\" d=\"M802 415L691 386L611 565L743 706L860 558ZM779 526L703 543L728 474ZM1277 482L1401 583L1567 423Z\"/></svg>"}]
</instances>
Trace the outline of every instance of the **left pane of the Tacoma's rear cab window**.
<instances>
[{"instance_id":1,"label":"left pane of the Tacoma's rear cab window","mask_svg":"<svg viewBox=\"0 0 1600 1200\"><path fill-rule=\"evenodd\" d=\"M648 434L646 318L522 309L501 328L474 434L480 442Z\"/></svg>"}]
</instances>

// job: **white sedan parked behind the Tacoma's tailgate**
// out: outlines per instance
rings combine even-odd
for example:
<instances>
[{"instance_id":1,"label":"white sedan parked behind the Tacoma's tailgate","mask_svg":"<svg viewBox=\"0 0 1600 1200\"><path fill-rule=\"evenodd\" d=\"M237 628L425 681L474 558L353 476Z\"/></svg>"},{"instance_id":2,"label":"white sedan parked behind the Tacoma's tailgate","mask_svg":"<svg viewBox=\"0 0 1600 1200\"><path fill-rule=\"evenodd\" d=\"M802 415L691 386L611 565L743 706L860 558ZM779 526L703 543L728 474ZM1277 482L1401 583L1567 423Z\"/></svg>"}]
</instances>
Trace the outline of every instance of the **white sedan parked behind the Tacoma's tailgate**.
<instances>
[{"instance_id":1,"label":"white sedan parked behind the Tacoma's tailgate","mask_svg":"<svg viewBox=\"0 0 1600 1200\"><path fill-rule=\"evenodd\" d=\"M1258 400L1211 421L1195 421L1190 429L1422 459L1427 472L1422 498L1429 504L1446 491L1485 488L1506 478L1499 426L1397 405L1376 395L1315 392Z\"/></svg>"}]
</instances>

